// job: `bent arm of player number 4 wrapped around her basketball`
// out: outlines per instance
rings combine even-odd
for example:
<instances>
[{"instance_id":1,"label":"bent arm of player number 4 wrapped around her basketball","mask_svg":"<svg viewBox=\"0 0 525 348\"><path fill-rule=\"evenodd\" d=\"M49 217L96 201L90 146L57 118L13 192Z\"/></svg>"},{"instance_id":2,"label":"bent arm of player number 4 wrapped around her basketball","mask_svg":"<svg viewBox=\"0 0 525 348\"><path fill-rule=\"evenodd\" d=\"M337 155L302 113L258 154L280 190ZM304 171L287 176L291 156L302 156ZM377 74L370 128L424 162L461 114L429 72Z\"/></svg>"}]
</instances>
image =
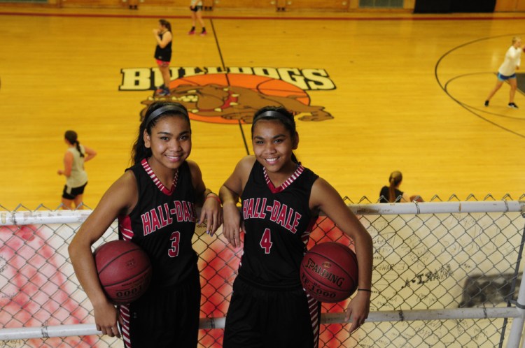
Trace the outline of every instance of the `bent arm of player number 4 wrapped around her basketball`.
<instances>
[{"instance_id":1,"label":"bent arm of player number 4 wrapped around her basketball","mask_svg":"<svg viewBox=\"0 0 525 348\"><path fill-rule=\"evenodd\" d=\"M370 289L372 287L372 238L356 215L349 210L337 191L321 177L311 189L310 208L321 210L341 231L349 235L356 245L358 261L358 289L356 296L346 308L346 320L352 318L349 331L356 330L365 322L370 312Z\"/></svg>"}]
</instances>

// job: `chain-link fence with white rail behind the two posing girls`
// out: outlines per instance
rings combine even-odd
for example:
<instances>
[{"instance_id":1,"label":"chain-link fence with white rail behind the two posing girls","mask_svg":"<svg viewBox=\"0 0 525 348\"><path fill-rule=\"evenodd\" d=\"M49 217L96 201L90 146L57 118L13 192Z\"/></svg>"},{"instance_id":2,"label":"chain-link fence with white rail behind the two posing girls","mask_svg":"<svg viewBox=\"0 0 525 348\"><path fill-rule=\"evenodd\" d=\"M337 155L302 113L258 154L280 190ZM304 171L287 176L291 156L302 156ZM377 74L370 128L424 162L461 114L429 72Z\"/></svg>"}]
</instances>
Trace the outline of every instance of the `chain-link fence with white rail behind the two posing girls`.
<instances>
[{"instance_id":1,"label":"chain-link fence with white rail behind the two posing girls","mask_svg":"<svg viewBox=\"0 0 525 348\"><path fill-rule=\"evenodd\" d=\"M503 201L487 196L482 211L468 210L477 201L474 196L468 202L452 196L449 202L459 208L449 212L444 207L450 203L435 203L440 201L437 196L434 203L368 204L365 197L357 205L346 201L374 240L371 317L386 311L402 315L403 311L515 307L525 222L523 205L510 196ZM510 203L514 208L505 209ZM46 338L45 328L50 326L94 323L92 305L78 285L67 253L89 213L23 206L0 210L0 325L3 331L12 328L15 333L18 328L41 328L41 335L7 336L15 339L1 341L0 347L123 347L120 340L108 336ZM116 239L116 229L114 223L94 247ZM309 248L330 240L352 244L330 219L320 217ZM204 229L197 229L194 249L200 256L201 318L221 319L228 310L241 249L231 248L221 233L211 237ZM340 313L344 307L346 302L326 303L323 312ZM507 341L512 320L505 315L377 320L352 335L346 324L323 324L320 347L497 347ZM223 328L214 328L216 322L211 320L200 330L200 347L222 347Z\"/></svg>"}]
</instances>

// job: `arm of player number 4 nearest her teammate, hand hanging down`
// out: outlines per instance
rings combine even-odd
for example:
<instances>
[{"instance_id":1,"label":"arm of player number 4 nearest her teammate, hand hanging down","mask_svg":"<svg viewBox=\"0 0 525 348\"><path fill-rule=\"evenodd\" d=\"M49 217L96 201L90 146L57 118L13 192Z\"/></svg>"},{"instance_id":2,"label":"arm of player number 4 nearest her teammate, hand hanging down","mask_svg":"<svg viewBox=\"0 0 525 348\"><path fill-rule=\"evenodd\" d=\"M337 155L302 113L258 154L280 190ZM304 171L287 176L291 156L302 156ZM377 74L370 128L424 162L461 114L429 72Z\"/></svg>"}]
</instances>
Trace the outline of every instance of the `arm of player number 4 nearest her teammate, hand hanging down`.
<instances>
[{"instance_id":1,"label":"arm of player number 4 nearest her teammate, hand hanging down","mask_svg":"<svg viewBox=\"0 0 525 348\"><path fill-rule=\"evenodd\" d=\"M223 234L233 247L241 246L241 214L237 202L248 181L255 157L246 156L239 161L232 175L228 177L221 189L219 197L223 201L224 226Z\"/></svg>"}]
</instances>

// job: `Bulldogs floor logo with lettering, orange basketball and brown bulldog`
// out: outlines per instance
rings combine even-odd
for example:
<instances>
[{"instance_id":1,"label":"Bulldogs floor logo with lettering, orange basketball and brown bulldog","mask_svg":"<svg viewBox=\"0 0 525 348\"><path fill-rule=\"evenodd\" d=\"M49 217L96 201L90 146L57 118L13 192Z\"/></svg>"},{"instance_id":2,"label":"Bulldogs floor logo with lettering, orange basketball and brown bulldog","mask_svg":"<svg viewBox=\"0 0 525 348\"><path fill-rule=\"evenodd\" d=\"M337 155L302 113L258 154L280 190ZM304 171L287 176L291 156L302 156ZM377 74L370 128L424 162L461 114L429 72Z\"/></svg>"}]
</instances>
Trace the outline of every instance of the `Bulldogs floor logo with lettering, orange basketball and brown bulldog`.
<instances>
[{"instance_id":1,"label":"Bulldogs floor logo with lettering, orange basketball and brown bulldog","mask_svg":"<svg viewBox=\"0 0 525 348\"><path fill-rule=\"evenodd\" d=\"M159 96L155 86L162 84L157 68L123 68L121 91L153 93L141 101L141 119L153 101L177 101L190 113L190 119L221 124L251 123L262 106L282 106L301 121L324 121L332 115L323 106L310 105L307 91L335 89L324 69L311 68L171 68L170 94Z\"/></svg>"}]
</instances>

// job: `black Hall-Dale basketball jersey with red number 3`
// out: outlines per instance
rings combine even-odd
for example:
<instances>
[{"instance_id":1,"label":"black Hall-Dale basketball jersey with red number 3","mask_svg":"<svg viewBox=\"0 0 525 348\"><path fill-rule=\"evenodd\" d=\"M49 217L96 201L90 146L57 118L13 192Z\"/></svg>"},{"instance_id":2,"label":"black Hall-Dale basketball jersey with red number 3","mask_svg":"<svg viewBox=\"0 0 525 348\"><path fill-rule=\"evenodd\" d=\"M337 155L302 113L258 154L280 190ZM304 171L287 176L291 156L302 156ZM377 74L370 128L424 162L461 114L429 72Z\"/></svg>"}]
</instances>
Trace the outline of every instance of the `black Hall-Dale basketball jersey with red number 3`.
<instances>
[{"instance_id":1,"label":"black Hall-Dale basketball jersey with red number 3","mask_svg":"<svg viewBox=\"0 0 525 348\"><path fill-rule=\"evenodd\" d=\"M148 161L128 168L137 178L139 201L130 215L118 217L118 234L148 254L153 268L152 284L181 282L197 268L192 247L197 212L190 166L184 162L168 190L153 173Z\"/></svg>"}]
</instances>

